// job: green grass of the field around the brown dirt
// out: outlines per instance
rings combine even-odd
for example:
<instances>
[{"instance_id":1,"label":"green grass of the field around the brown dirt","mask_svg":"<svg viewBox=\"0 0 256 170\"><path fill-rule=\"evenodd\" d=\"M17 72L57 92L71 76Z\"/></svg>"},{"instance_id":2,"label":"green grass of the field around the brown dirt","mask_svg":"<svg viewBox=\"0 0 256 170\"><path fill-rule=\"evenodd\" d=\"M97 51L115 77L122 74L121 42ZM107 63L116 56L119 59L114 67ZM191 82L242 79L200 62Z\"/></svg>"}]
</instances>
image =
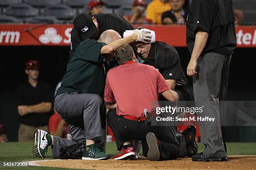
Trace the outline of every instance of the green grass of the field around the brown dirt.
<instances>
[{"instance_id":1,"label":"green grass of the field around the brown dirt","mask_svg":"<svg viewBox=\"0 0 256 170\"><path fill-rule=\"evenodd\" d=\"M30 160L42 160L40 158L34 158L32 155L33 142L29 143L0 143L0 161L8 162L21 162ZM199 152L204 149L204 145L198 144ZM256 155L256 143L227 143L228 155ZM115 143L107 143L106 152L113 157L118 153ZM142 153L141 153L142 155ZM51 148L48 148L46 160L51 158ZM0 167L2 169L3 167ZM67 170L67 168L47 168L47 167L27 167L30 170ZM18 168L18 169L27 169ZM10 168L15 169L15 168Z\"/></svg>"}]
</instances>

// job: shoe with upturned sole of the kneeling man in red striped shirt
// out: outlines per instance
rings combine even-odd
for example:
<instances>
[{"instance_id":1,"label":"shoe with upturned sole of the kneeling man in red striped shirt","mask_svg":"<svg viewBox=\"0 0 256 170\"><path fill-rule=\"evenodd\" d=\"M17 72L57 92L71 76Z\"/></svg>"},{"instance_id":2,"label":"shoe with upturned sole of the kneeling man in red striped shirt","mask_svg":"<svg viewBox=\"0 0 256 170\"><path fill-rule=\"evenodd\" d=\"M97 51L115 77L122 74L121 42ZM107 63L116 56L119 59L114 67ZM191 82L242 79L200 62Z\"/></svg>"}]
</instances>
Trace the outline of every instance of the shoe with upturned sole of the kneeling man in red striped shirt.
<instances>
[{"instance_id":1,"label":"shoe with upturned sole of the kneeling man in red striped shirt","mask_svg":"<svg viewBox=\"0 0 256 170\"><path fill-rule=\"evenodd\" d=\"M154 133L148 133L146 135L148 143L148 159L149 160L160 160L159 143Z\"/></svg>"}]
</instances>

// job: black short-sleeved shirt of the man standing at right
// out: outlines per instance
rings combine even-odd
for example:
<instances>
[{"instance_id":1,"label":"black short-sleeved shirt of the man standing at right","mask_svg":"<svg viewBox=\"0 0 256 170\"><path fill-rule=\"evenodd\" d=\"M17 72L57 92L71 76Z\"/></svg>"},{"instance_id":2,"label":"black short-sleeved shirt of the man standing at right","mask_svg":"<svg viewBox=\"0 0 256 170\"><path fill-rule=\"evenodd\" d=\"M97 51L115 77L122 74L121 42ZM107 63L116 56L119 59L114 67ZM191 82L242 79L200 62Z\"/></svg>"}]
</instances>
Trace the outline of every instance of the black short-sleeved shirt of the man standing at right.
<instances>
[{"instance_id":1,"label":"black short-sleeved shirt of the man standing at right","mask_svg":"<svg viewBox=\"0 0 256 170\"><path fill-rule=\"evenodd\" d=\"M202 53L232 54L236 48L235 20L231 0L192 0L187 15L187 47L190 54L197 28L209 33Z\"/></svg>"}]
</instances>

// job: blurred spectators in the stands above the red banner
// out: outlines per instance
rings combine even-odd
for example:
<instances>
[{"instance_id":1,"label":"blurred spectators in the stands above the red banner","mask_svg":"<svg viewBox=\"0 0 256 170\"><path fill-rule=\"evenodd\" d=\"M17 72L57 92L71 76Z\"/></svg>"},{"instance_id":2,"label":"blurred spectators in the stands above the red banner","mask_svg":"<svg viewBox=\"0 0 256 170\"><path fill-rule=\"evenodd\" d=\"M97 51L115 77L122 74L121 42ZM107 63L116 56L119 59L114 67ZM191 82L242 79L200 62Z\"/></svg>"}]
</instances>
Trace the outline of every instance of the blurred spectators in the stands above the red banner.
<instances>
[{"instance_id":1,"label":"blurred spectators in the stands above the red banner","mask_svg":"<svg viewBox=\"0 0 256 170\"><path fill-rule=\"evenodd\" d=\"M144 0L134 0L132 14L123 15L123 18L131 24L185 24L187 12L192 0L152 0L148 5ZM104 2L92 0L88 9L89 15L102 13ZM243 20L243 12L234 9L236 24Z\"/></svg>"}]
</instances>

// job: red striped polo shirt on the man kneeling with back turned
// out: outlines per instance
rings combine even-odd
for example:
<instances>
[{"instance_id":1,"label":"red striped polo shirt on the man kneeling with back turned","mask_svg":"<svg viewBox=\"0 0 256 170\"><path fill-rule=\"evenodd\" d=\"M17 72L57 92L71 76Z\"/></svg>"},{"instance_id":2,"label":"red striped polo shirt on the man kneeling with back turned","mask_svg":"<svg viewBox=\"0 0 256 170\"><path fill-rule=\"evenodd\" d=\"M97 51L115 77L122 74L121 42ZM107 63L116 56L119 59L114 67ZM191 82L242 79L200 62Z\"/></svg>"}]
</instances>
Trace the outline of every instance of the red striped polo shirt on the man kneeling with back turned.
<instances>
[{"instance_id":1,"label":"red striped polo shirt on the man kneeling with back turned","mask_svg":"<svg viewBox=\"0 0 256 170\"><path fill-rule=\"evenodd\" d=\"M108 71L104 100L117 103L118 115L141 117L144 109L151 113L151 104L158 101L158 93L169 89L153 66L128 61Z\"/></svg>"}]
</instances>

